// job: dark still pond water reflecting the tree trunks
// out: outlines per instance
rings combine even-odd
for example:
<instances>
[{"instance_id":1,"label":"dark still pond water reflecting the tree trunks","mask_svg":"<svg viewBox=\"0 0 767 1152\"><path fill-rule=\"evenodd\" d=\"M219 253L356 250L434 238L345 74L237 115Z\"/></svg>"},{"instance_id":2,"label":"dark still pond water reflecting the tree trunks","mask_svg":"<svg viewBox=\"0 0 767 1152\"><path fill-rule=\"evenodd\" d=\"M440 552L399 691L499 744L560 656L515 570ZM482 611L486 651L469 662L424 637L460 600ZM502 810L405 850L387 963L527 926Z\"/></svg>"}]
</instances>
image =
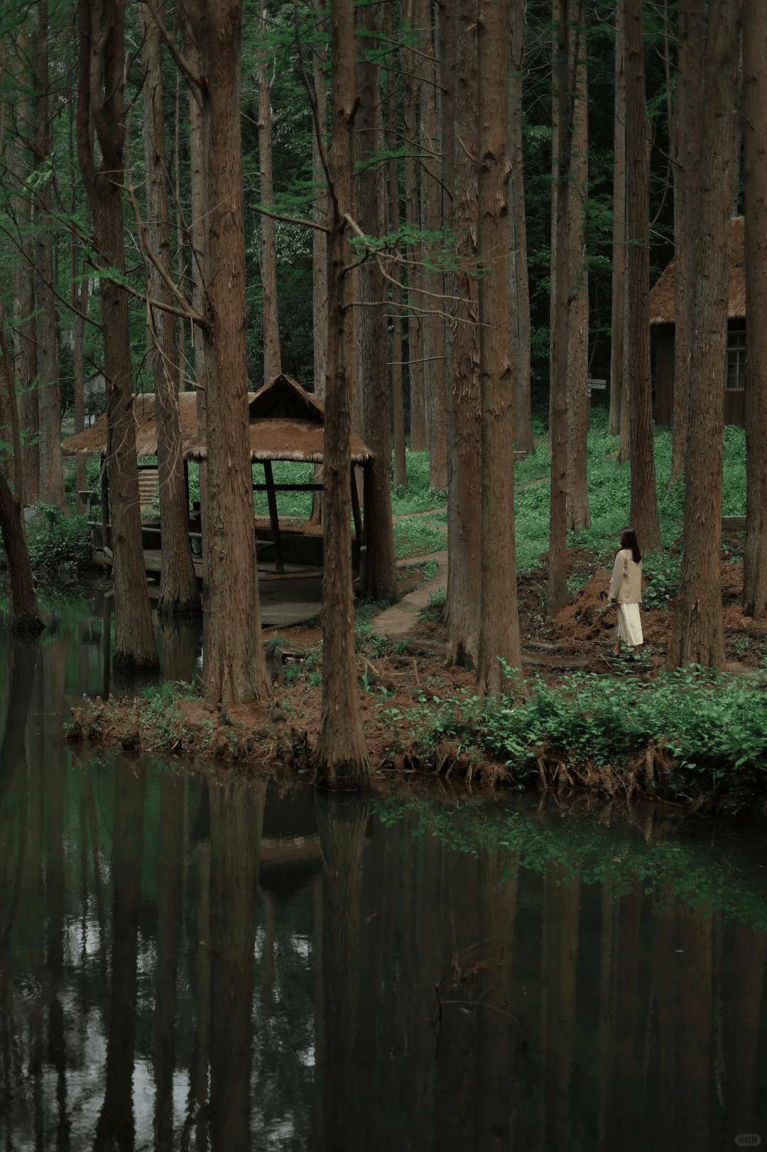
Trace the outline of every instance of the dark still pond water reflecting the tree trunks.
<instances>
[{"instance_id":1,"label":"dark still pond water reflecting the tree trunks","mask_svg":"<svg viewBox=\"0 0 767 1152\"><path fill-rule=\"evenodd\" d=\"M0 1152L767 1143L760 834L73 750L108 619L48 607L0 636Z\"/></svg>"}]
</instances>

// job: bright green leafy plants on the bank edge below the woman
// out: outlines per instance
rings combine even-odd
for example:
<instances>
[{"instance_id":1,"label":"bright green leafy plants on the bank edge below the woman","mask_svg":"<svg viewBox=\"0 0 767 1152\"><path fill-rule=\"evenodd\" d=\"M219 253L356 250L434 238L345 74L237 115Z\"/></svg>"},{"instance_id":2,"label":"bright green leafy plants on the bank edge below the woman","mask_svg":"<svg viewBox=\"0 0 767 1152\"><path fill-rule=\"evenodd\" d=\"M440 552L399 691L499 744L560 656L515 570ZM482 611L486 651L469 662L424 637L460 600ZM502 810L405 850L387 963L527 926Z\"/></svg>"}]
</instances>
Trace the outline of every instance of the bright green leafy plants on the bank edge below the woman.
<instances>
[{"instance_id":1,"label":"bright green leafy plants on the bank edge below the woman","mask_svg":"<svg viewBox=\"0 0 767 1152\"><path fill-rule=\"evenodd\" d=\"M540 779L544 764L562 764L582 782L594 770L603 785L599 770L630 770L652 749L661 767L647 790L727 808L767 798L767 692L759 675L696 667L651 682L576 674L555 688L532 680L526 692L509 679L498 698L423 695L413 708L389 708L387 719L427 759L449 744L469 759L504 765L522 785Z\"/></svg>"}]
</instances>

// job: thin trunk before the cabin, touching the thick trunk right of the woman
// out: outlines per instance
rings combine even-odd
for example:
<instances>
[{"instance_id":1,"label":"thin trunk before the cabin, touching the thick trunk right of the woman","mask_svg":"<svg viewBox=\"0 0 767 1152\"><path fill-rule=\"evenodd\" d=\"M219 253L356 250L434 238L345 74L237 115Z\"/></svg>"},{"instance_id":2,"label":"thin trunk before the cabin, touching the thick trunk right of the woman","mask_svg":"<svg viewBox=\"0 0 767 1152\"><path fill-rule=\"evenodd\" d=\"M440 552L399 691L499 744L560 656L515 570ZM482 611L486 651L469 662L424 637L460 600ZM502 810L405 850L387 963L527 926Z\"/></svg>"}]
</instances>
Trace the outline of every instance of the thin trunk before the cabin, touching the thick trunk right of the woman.
<instances>
[{"instance_id":1,"label":"thin trunk before the cabin, touching the thick trunk right of the woman","mask_svg":"<svg viewBox=\"0 0 767 1152\"><path fill-rule=\"evenodd\" d=\"M671 134L674 158L674 411L671 482L681 480L688 450L688 401L692 294L694 283L688 230L696 218L697 168L700 164L699 116L703 104L704 25L703 8L696 0L679 5L679 56L676 116Z\"/></svg>"}]
</instances>

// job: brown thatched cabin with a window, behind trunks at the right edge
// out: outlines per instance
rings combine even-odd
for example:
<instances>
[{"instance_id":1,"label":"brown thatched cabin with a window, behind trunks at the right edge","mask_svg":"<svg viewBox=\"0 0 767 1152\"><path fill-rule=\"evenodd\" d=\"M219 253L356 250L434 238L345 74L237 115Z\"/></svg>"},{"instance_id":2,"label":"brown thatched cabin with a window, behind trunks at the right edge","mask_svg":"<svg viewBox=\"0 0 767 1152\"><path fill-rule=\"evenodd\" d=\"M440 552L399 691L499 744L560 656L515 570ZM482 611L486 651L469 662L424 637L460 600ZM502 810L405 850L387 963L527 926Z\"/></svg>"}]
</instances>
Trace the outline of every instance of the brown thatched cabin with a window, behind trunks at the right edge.
<instances>
[{"instance_id":1,"label":"brown thatched cabin with a window, behind trunks at the right edge","mask_svg":"<svg viewBox=\"0 0 767 1152\"><path fill-rule=\"evenodd\" d=\"M674 262L650 294L655 423L671 424L674 412L674 335L676 291ZM727 326L724 423L745 424L745 245L743 217L730 225L730 283Z\"/></svg>"}]
</instances>

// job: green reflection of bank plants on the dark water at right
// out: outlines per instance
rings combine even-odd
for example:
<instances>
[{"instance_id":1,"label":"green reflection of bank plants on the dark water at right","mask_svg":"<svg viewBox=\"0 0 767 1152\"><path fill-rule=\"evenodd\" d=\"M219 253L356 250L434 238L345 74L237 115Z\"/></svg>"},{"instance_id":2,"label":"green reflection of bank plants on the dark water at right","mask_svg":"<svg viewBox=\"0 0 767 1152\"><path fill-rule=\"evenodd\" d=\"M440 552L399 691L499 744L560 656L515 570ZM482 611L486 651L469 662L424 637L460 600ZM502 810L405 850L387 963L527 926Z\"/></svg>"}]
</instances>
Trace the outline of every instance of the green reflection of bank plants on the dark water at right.
<instances>
[{"instance_id":1,"label":"green reflection of bank plants on the dark water at right","mask_svg":"<svg viewBox=\"0 0 767 1152\"><path fill-rule=\"evenodd\" d=\"M500 855L514 867L539 876L556 869L562 882L603 884L615 899L639 884L662 911L674 897L689 907L720 911L729 919L767 931L767 882L747 859L712 847L708 840L645 840L629 821L606 826L591 814L546 813L479 797L449 805L430 798L377 797L375 816L387 827L408 820L413 835L433 836L451 851Z\"/></svg>"}]
</instances>

